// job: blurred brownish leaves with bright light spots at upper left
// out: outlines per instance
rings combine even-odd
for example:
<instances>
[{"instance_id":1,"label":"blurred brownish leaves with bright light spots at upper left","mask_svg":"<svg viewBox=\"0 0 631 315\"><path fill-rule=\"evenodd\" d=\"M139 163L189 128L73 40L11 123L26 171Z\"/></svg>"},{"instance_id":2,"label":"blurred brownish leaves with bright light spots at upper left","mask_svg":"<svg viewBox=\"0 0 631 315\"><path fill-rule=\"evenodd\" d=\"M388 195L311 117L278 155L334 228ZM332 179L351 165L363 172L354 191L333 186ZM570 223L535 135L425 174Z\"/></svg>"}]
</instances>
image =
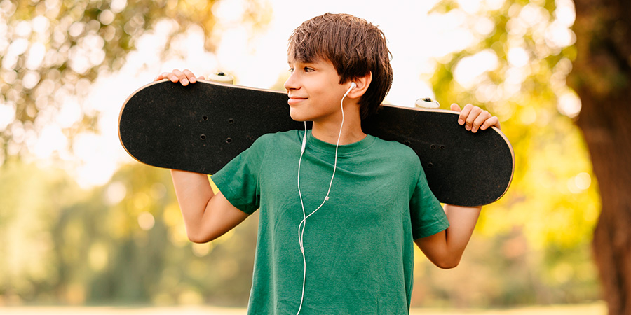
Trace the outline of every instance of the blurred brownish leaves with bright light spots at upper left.
<instances>
[{"instance_id":1,"label":"blurred brownish leaves with bright light spots at upper left","mask_svg":"<svg viewBox=\"0 0 631 315\"><path fill-rule=\"evenodd\" d=\"M217 3L1 0L0 165L8 156L28 157L37 151L46 132L63 134L72 148L76 134L94 130L98 112L82 104L90 83L120 69L142 34L166 29L165 49L156 51L165 57L179 34L201 27L206 50L215 50ZM245 25L266 24L269 9L257 1L242 4Z\"/></svg>"}]
</instances>

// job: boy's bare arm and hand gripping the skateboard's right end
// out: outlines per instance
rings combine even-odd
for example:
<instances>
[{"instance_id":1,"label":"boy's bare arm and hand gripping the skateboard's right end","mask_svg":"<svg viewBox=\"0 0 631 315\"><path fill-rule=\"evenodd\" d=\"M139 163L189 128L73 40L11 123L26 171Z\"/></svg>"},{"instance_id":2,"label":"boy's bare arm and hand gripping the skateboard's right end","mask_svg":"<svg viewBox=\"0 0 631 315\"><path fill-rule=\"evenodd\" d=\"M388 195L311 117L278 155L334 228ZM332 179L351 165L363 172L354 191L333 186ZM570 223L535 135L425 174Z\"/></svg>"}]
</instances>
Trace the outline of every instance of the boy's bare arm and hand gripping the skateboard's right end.
<instances>
[{"instance_id":1,"label":"boy's bare arm and hand gripping the skateboard's right end","mask_svg":"<svg viewBox=\"0 0 631 315\"><path fill-rule=\"evenodd\" d=\"M500 127L499 119L480 107L467 104L460 109L458 104L452 104L452 111L460 112L458 123L471 132L486 130L491 126ZM456 267L473 234L480 209L482 207L445 204L449 228L435 235L416 239L414 242L434 265L445 269Z\"/></svg>"}]
</instances>

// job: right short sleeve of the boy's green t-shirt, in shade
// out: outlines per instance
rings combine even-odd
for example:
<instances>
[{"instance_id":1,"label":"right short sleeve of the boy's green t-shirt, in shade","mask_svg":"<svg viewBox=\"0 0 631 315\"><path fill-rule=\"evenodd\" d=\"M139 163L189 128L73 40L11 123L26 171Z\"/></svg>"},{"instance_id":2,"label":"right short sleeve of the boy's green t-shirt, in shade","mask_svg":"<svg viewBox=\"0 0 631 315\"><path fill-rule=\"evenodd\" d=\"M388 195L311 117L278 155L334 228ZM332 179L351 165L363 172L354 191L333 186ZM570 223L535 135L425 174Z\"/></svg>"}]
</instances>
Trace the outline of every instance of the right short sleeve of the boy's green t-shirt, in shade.
<instances>
[{"instance_id":1,"label":"right short sleeve of the boy's green t-shirt, in shade","mask_svg":"<svg viewBox=\"0 0 631 315\"><path fill-rule=\"evenodd\" d=\"M423 167L420 167L419 179L416 181L409 209L414 239L435 235L449 228L445 211L430 190Z\"/></svg>"}]
</instances>

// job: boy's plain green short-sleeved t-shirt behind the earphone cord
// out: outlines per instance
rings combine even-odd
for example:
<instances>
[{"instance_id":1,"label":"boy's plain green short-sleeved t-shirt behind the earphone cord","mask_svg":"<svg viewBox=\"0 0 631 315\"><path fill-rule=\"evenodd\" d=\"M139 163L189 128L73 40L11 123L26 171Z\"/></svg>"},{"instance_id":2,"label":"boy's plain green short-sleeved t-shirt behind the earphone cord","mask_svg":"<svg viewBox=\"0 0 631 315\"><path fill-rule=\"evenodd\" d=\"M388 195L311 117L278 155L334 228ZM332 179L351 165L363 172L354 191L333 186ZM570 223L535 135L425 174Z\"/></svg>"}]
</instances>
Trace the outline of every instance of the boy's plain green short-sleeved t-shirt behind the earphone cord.
<instances>
[{"instance_id":1,"label":"boy's plain green short-sleeved t-shirt behind the earphone cord","mask_svg":"<svg viewBox=\"0 0 631 315\"><path fill-rule=\"evenodd\" d=\"M266 134L212 176L224 196L252 214L260 208L248 314L296 314L303 258L297 188L304 131ZM307 133L300 169L306 214L324 200L335 145ZM418 156L367 136L339 146L329 200L307 218L301 314L408 314L414 239L445 230L445 212Z\"/></svg>"}]
</instances>

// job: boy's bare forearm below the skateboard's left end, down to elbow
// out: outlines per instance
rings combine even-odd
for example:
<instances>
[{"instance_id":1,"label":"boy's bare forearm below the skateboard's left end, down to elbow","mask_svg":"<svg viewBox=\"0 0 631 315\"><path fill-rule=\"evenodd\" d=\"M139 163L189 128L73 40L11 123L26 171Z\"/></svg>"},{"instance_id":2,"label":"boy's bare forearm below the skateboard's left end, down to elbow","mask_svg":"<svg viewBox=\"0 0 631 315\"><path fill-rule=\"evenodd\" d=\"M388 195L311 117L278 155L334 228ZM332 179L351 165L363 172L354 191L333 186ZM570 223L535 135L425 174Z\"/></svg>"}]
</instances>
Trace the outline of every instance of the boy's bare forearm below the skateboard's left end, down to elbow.
<instances>
[{"instance_id":1,"label":"boy's bare forearm below the skateboard's left end, down to elbow","mask_svg":"<svg viewBox=\"0 0 631 315\"><path fill-rule=\"evenodd\" d=\"M210 198L215 195L210 187L208 175L171 170L175 195L182 210L186 231L189 234L198 230Z\"/></svg>"}]
</instances>

